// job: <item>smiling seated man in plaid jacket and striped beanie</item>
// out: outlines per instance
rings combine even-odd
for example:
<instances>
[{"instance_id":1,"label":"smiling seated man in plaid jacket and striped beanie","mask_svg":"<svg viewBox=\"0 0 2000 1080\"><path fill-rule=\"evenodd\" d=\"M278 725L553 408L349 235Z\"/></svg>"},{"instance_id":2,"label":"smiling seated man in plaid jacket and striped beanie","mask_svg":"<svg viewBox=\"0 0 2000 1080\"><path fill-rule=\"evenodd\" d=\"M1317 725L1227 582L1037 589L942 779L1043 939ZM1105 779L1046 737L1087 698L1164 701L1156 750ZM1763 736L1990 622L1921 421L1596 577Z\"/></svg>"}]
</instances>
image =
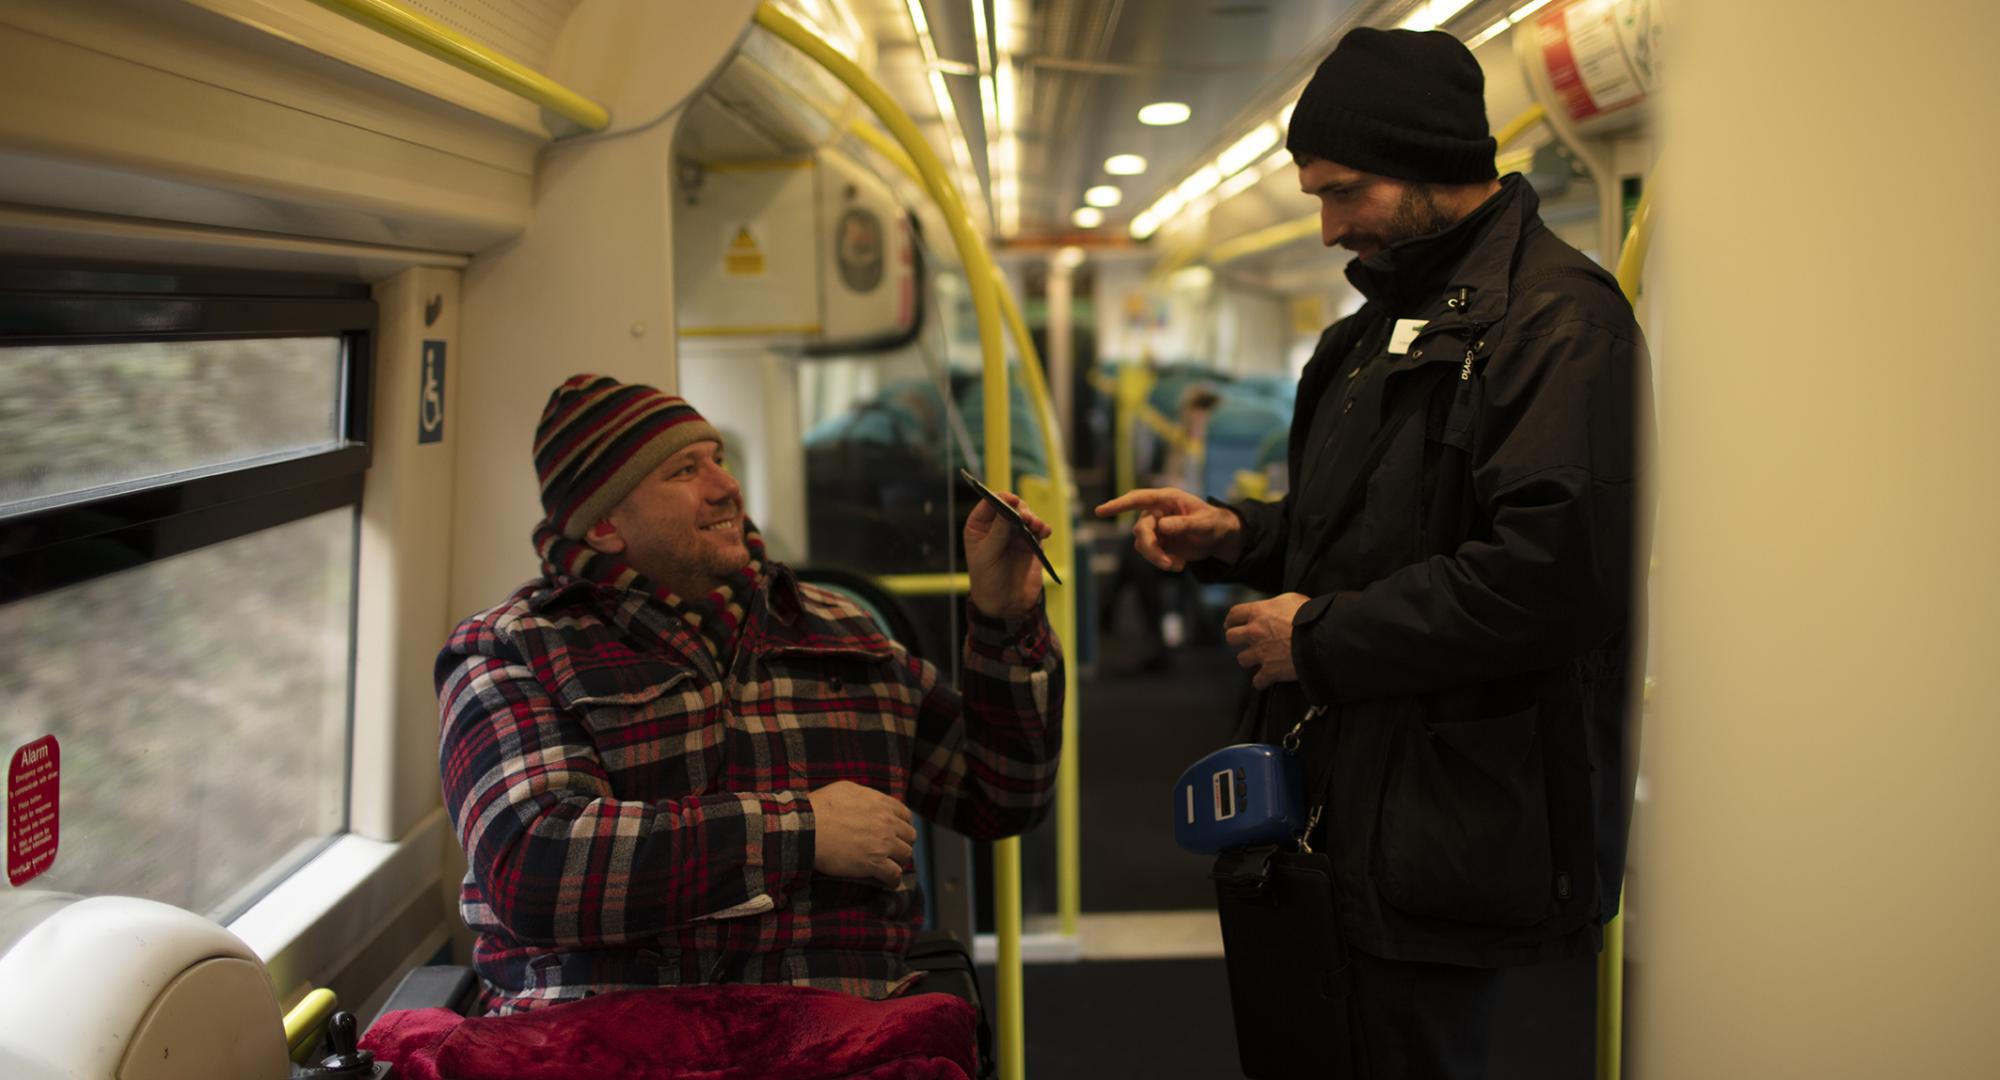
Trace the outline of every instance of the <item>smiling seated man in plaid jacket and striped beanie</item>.
<instances>
[{"instance_id":1,"label":"smiling seated man in plaid jacket and striped beanie","mask_svg":"<svg viewBox=\"0 0 2000 1080\"><path fill-rule=\"evenodd\" d=\"M966 522L956 690L764 558L686 400L574 376L534 464L542 576L464 620L436 668L478 1004L910 990L912 812L988 840L1054 792L1062 652L1034 554L988 504Z\"/></svg>"}]
</instances>

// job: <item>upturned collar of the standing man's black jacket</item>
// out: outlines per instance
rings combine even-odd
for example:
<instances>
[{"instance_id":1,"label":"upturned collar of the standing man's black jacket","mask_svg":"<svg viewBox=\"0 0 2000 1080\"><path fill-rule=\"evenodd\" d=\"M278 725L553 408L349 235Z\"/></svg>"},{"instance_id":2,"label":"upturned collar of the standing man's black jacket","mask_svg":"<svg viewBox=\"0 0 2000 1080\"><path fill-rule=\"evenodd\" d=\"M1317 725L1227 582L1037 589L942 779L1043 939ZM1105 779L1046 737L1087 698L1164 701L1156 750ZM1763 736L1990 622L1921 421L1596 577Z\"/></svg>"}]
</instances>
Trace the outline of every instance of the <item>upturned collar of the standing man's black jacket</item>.
<instances>
[{"instance_id":1,"label":"upturned collar of the standing man's black jacket","mask_svg":"<svg viewBox=\"0 0 2000 1080\"><path fill-rule=\"evenodd\" d=\"M1348 264L1348 280L1384 312L1420 310L1434 328L1488 326L1508 304L1508 272L1542 200L1520 174L1446 230L1392 244ZM1442 312L1438 312L1442 308Z\"/></svg>"}]
</instances>

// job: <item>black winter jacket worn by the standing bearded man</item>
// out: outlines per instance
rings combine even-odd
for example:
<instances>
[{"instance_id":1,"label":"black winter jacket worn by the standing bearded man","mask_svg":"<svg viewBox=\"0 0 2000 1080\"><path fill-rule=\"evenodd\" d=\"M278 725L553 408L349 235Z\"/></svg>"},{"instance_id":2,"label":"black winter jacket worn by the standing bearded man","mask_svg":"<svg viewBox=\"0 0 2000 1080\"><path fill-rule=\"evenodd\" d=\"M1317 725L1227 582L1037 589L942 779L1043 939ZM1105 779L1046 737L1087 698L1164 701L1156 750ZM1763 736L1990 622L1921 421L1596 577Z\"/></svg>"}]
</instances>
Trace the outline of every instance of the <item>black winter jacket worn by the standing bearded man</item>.
<instances>
[{"instance_id":1,"label":"black winter jacket worn by the standing bearded man","mask_svg":"<svg viewBox=\"0 0 2000 1080\"><path fill-rule=\"evenodd\" d=\"M1310 596L1300 680L1254 710L1276 740L1328 706L1300 754L1330 784L1340 924L1394 960L1596 950L1624 874L1650 372L1616 280L1538 204L1508 176L1348 266L1368 304L1300 378L1290 494L1232 506L1242 556L1196 566ZM1428 320L1406 354L1396 318ZM1368 364L1378 426L1346 400Z\"/></svg>"}]
</instances>

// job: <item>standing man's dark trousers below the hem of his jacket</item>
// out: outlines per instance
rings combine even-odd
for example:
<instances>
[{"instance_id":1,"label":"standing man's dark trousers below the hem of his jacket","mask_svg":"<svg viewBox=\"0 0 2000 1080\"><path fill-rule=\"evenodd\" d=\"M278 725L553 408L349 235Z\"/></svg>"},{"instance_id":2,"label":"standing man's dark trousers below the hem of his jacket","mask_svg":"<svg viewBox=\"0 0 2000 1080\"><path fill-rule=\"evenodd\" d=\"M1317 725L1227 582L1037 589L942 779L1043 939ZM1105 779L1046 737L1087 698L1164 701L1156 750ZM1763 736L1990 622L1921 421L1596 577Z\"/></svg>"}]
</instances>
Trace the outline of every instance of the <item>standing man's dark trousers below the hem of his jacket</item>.
<instances>
[{"instance_id":1,"label":"standing man's dark trousers below the hem of his jacket","mask_svg":"<svg viewBox=\"0 0 2000 1080\"><path fill-rule=\"evenodd\" d=\"M1480 1080L1488 1074L1500 970L1352 952L1354 1080Z\"/></svg>"}]
</instances>

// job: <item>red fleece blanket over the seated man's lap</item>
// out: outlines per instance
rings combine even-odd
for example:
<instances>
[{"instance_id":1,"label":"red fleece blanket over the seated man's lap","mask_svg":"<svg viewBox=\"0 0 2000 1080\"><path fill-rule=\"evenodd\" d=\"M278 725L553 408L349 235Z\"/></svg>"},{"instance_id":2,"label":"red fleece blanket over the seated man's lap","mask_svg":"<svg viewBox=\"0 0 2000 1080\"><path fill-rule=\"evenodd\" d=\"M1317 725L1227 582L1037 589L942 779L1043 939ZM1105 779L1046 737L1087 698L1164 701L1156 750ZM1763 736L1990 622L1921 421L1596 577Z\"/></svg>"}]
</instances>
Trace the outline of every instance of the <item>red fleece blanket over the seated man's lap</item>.
<instances>
[{"instance_id":1,"label":"red fleece blanket over the seated man's lap","mask_svg":"<svg viewBox=\"0 0 2000 1080\"><path fill-rule=\"evenodd\" d=\"M474 1020L390 1012L362 1046L402 1080L968 1080L972 1024L950 994L680 986Z\"/></svg>"}]
</instances>

